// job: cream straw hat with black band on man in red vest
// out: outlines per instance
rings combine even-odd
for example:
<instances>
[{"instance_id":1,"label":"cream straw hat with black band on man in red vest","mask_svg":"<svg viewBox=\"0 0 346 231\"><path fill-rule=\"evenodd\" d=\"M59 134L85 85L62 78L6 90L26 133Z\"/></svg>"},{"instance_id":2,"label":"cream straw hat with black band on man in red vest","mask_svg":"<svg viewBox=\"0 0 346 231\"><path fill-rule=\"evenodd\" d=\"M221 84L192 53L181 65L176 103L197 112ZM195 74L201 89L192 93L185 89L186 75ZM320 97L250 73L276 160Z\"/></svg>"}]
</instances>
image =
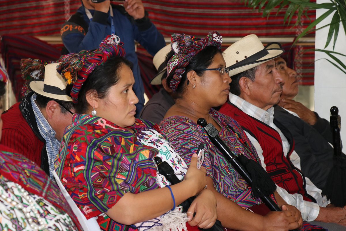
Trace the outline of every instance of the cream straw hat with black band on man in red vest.
<instances>
[{"instance_id":1,"label":"cream straw hat with black band on man in red vest","mask_svg":"<svg viewBox=\"0 0 346 231\"><path fill-rule=\"evenodd\" d=\"M229 76L247 71L255 66L279 57L284 52L280 48L264 48L257 35L241 38L224 51Z\"/></svg>"}]
</instances>

